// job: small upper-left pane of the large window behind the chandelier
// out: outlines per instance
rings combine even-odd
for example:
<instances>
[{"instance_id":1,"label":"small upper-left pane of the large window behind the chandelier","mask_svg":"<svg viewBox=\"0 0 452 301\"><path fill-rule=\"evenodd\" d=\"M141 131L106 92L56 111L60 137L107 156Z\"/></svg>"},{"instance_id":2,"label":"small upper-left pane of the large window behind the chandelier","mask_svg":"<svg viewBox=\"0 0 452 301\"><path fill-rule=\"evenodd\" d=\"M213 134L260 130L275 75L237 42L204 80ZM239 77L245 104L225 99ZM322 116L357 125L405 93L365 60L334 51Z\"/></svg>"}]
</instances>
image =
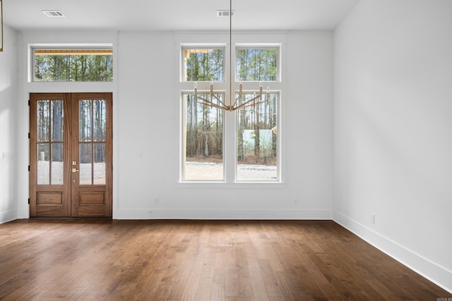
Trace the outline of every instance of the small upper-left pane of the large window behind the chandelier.
<instances>
[{"instance_id":1,"label":"small upper-left pane of the large window behind the chandelier","mask_svg":"<svg viewBox=\"0 0 452 301\"><path fill-rule=\"evenodd\" d=\"M223 81L224 49L183 48L185 81Z\"/></svg>"}]
</instances>

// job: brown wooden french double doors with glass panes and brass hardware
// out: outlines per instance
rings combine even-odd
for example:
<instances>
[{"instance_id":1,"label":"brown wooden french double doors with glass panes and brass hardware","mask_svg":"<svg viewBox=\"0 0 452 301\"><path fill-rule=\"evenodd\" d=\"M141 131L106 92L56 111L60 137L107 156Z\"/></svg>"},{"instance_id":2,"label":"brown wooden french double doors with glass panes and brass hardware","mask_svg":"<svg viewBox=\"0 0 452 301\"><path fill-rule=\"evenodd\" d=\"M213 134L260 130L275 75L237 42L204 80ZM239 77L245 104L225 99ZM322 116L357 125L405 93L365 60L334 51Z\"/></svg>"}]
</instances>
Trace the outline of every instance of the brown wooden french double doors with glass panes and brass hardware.
<instances>
[{"instance_id":1,"label":"brown wooden french double doors with glass panes and brass hardware","mask_svg":"<svg viewBox=\"0 0 452 301\"><path fill-rule=\"evenodd\" d=\"M112 216L112 93L30 94L30 216Z\"/></svg>"}]
</instances>

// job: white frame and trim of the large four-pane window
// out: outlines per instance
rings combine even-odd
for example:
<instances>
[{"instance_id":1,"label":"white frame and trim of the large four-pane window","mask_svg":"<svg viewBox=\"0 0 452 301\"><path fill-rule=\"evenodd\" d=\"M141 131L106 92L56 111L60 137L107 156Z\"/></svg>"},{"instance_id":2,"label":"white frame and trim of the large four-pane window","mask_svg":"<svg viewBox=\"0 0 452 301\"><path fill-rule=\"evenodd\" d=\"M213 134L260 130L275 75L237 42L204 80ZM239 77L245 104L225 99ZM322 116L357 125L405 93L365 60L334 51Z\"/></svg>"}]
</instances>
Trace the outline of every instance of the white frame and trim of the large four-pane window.
<instances>
[{"instance_id":1,"label":"white frame and trim of the large four-pane window","mask_svg":"<svg viewBox=\"0 0 452 301\"><path fill-rule=\"evenodd\" d=\"M285 188L285 161L283 147L283 120L284 120L284 106L283 106L283 91L284 89L284 66L285 66L285 33L270 34L269 37L263 39L263 42L256 43L244 43L237 42L232 44L232 56L229 52L229 44L218 43L218 39L224 39L227 35L219 37L215 35L212 39L213 42L196 42L203 35L198 34L176 34L175 54L177 56L176 70L177 70L177 82L176 82L176 99L179 110L179 123L177 124L176 132L178 137L177 147L177 169L176 169L176 188ZM251 41L256 39L254 35L248 35L251 37ZM276 38L275 38L276 37ZM246 39L246 38L245 38ZM278 42L266 42L271 39ZM194 40L194 43L186 42L187 40ZM209 39L207 39L209 40ZM237 49L243 48L278 48L278 77L276 81L265 82L264 85L270 86L270 92L278 94L278 180L268 181L245 181L237 180L237 113L225 112L223 118L223 172L224 180L222 181L203 181L203 180L183 180L182 168L184 168L184 99L182 95L184 93L192 93L194 90L194 82L185 81L183 75L183 54L184 48L209 48L209 47L225 47L225 66L224 70L224 82L215 82L215 92L225 92L225 99L229 99L229 74L230 67L232 66L232 90L239 90L239 81L237 80ZM232 57L233 63L230 64L229 58ZM208 91L210 82L198 82L198 91ZM243 82L243 90L258 90L256 82ZM227 145L233 145L233 147L227 147Z\"/></svg>"}]
</instances>

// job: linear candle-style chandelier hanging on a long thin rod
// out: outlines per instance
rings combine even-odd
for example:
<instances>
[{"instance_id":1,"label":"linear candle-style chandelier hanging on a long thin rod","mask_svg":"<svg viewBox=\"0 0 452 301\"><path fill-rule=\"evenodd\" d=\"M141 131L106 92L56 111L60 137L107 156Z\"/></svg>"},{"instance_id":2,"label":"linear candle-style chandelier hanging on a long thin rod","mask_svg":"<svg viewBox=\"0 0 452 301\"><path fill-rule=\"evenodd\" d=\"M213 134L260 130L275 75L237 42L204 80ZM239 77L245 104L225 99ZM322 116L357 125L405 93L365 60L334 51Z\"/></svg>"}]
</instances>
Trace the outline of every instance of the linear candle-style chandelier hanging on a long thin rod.
<instances>
[{"instance_id":1,"label":"linear candle-style chandelier hanging on a long thin rod","mask_svg":"<svg viewBox=\"0 0 452 301\"><path fill-rule=\"evenodd\" d=\"M256 106L258 104L268 103L270 99L270 87L267 87L266 90L266 97L263 97L263 82L259 82L259 90L257 92L251 92L252 97L251 99L244 99L244 93L243 93L243 80L240 78L239 82L239 93L237 94L237 97L234 96L233 90L232 90L232 0L230 0L230 6L229 6L229 62L230 62L230 68L229 68L229 83L230 83L230 99L228 102L223 102L222 99L217 97L215 95L215 92L213 91L213 80L210 80L210 99L206 99L198 95L198 82L194 83L194 99L201 104L205 104L207 106L215 107L217 109L222 109L225 111L235 111L238 109L244 109L249 106ZM214 102L214 99L216 102Z\"/></svg>"}]
</instances>

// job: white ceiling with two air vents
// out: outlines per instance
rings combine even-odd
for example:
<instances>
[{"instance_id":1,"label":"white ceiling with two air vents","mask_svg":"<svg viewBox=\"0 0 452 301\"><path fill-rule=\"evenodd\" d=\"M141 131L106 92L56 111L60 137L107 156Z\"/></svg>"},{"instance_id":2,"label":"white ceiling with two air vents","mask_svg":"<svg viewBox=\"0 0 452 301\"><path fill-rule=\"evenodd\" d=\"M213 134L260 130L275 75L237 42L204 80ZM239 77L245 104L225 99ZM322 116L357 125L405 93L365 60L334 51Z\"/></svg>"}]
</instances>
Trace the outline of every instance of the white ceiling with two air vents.
<instances>
[{"instance_id":1,"label":"white ceiling with two air vents","mask_svg":"<svg viewBox=\"0 0 452 301\"><path fill-rule=\"evenodd\" d=\"M234 0L233 30L331 30L359 0ZM230 0L3 0L16 30L229 30ZM65 18L49 18L59 10Z\"/></svg>"}]
</instances>

